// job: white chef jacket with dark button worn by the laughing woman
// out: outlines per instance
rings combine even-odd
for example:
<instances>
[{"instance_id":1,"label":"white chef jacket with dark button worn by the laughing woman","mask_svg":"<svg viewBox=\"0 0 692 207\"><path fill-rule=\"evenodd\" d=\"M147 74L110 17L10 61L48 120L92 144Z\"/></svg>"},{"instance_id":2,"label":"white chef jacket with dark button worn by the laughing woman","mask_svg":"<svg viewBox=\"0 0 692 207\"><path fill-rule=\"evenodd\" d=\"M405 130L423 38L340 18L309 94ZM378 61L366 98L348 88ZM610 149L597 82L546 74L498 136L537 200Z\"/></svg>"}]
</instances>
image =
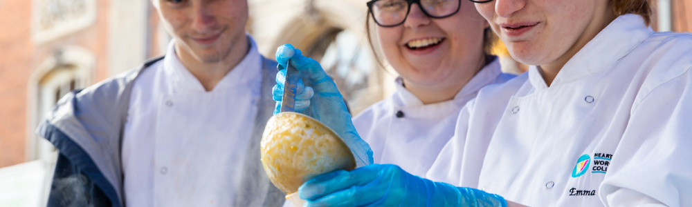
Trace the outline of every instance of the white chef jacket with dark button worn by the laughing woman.
<instances>
[{"instance_id":1,"label":"white chef jacket with dark button worn by the laughing woman","mask_svg":"<svg viewBox=\"0 0 692 207\"><path fill-rule=\"evenodd\" d=\"M396 164L425 177L437 153L454 135L459 110L478 90L514 77L503 74L497 58L487 64L457 92L454 99L424 104L396 79L397 92L373 104L353 120L358 134L372 148L374 162ZM397 115L399 114L399 115Z\"/></svg>"}]
</instances>

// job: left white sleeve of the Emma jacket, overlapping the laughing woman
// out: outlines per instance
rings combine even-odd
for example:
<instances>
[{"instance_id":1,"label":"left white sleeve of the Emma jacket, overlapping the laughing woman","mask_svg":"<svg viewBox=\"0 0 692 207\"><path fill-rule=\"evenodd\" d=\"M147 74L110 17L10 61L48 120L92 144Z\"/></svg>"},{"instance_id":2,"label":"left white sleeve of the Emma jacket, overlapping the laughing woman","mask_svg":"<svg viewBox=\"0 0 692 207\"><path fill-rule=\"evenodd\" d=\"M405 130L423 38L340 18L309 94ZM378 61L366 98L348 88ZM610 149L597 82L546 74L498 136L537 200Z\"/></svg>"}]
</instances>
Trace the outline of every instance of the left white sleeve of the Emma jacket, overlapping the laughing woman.
<instances>
[{"instance_id":1,"label":"left white sleeve of the Emma jacket, overlapping the laughing woman","mask_svg":"<svg viewBox=\"0 0 692 207\"><path fill-rule=\"evenodd\" d=\"M474 103L475 99L471 99L459 112L454 136L447 141L447 144L444 145L437 155L435 162L430 166L430 170L426 173L428 179L459 186L468 121Z\"/></svg>"}]
</instances>

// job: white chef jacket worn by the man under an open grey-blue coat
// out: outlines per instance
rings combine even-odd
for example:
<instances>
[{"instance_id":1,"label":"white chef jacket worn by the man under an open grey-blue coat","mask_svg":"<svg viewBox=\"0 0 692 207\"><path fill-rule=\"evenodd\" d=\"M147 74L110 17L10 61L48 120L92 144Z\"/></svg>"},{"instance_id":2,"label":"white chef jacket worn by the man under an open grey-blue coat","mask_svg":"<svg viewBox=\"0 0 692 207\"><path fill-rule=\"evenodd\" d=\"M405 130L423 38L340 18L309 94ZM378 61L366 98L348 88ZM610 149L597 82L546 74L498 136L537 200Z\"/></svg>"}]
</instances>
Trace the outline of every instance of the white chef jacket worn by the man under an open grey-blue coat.
<instances>
[{"instance_id":1,"label":"white chef jacket worn by the man under an open grey-blue coat","mask_svg":"<svg viewBox=\"0 0 692 207\"><path fill-rule=\"evenodd\" d=\"M174 41L136 79L122 142L126 206L233 206L262 82L248 40L246 57L209 92Z\"/></svg>"}]
</instances>

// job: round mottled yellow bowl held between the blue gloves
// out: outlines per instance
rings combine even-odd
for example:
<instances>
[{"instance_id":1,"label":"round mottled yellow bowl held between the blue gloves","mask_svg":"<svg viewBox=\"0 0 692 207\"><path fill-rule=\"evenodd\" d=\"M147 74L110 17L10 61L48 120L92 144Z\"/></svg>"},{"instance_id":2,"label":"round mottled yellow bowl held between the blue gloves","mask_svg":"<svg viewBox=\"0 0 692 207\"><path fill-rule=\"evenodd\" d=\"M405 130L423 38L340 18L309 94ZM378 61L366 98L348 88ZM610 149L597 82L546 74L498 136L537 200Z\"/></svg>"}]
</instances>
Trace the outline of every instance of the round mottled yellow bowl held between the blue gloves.
<instances>
[{"instance_id":1,"label":"round mottled yellow bowl held between the blue gloves","mask_svg":"<svg viewBox=\"0 0 692 207\"><path fill-rule=\"evenodd\" d=\"M264 172L286 194L316 175L356 167L351 150L333 130L296 112L280 112L267 121L260 150Z\"/></svg>"}]
</instances>

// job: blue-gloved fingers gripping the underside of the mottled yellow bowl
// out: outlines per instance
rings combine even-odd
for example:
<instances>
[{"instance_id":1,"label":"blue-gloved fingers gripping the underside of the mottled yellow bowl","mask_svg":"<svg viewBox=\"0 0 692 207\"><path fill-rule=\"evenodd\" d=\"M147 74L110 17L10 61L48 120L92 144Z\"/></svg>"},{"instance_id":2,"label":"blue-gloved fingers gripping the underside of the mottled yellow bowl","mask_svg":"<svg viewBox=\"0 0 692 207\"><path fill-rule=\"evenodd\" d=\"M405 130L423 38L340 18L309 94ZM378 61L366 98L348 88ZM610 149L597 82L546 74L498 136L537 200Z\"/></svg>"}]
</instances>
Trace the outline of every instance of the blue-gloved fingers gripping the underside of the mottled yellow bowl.
<instances>
[{"instance_id":1,"label":"blue-gloved fingers gripping the underside of the mottled yellow bowl","mask_svg":"<svg viewBox=\"0 0 692 207\"><path fill-rule=\"evenodd\" d=\"M302 184L298 188L298 195L301 199L318 199L352 186L364 186L379 176L379 168L379 165L370 165L356 168L351 172L345 170L327 172Z\"/></svg>"}]
</instances>

